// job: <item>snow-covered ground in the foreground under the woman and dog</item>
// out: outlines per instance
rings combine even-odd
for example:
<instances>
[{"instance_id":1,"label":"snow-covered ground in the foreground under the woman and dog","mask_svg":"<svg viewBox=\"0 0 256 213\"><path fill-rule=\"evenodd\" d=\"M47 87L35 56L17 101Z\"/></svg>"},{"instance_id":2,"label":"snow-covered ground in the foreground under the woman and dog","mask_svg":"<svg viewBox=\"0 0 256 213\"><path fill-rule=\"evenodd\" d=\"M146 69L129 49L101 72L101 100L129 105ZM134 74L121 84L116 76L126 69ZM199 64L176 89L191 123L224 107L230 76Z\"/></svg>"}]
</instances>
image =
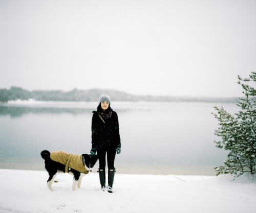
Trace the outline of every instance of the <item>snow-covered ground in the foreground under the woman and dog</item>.
<instances>
[{"instance_id":1,"label":"snow-covered ground in the foreground under the woman and dog","mask_svg":"<svg viewBox=\"0 0 256 213\"><path fill-rule=\"evenodd\" d=\"M110 194L96 172L72 191L73 177L58 174L53 192L46 171L0 169L1 213L71 212L255 212L256 181L232 176L115 175Z\"/></svg>"}]
</instances>

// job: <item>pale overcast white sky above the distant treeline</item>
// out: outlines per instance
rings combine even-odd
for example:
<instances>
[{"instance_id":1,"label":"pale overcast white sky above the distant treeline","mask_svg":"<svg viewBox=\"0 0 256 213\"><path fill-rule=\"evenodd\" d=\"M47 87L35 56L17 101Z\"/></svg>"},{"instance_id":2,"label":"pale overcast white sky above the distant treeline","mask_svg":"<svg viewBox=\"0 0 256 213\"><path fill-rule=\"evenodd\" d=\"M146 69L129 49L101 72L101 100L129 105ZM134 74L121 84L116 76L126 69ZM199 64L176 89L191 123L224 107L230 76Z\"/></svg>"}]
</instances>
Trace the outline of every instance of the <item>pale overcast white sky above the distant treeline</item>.
<instances>
[{"instance_id":1,"label":"pale overcast white sky above the distant treeline","mask_svg":"<svg viewBox=\"0 0 256 213\"><path fill-rule=\"evenodd\" d=\"M0 88L241 97L255 0L0 0Z\"/></svg>"}]
</instances>

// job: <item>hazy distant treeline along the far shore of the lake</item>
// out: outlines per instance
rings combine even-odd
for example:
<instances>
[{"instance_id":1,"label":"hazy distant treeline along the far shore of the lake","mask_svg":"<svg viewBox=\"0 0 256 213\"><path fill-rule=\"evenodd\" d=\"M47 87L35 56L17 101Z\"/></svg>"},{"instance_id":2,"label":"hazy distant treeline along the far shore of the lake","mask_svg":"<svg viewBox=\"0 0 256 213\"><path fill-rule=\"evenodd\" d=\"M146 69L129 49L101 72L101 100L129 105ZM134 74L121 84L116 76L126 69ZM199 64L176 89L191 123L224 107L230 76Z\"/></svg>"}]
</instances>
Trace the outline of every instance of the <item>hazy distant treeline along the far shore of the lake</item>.
<instances>
[{"instance_id":1,"label":"hazy distant treeline along the far shore of the lake","mask_svg":"<svg viewBox=\"0 0 256 213\"><path fill-rule=\"evenodd\" d=\"M236 103L238 98L207 98L207 97L172 97L172 96L135 96L117 90L89 89L72 91L61 90L33 90L28 91L20 87L0 89L0 102L15 100L37 101L98 101L101 94L109 94L112 101L156 101L156 102L225 102Z\"/></svg>"}]
</instances>

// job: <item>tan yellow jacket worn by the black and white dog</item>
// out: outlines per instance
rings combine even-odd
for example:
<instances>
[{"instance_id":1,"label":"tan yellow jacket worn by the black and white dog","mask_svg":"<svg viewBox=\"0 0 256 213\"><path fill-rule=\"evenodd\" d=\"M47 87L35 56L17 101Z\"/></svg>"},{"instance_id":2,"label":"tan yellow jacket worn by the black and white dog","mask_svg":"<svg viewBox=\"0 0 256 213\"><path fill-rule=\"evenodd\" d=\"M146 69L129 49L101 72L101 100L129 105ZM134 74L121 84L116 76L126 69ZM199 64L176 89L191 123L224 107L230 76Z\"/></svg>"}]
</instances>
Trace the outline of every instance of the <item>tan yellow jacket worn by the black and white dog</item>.
<instances>
[{"instance_id":1,"label":"tan yellow jacket worn by the black and white dog","mask_svg":"<svg viewBox=\"0 0 256 213\"><path fill-rule=\"evenodd\" d=\"M70 154L65 151L53 151L50 155L53 161L59 162L65 165L65 172L68 173L69 167L78 172L88 174L89 171L84 167L82 163L82 155Z\"/></svg>"}]
</instances>

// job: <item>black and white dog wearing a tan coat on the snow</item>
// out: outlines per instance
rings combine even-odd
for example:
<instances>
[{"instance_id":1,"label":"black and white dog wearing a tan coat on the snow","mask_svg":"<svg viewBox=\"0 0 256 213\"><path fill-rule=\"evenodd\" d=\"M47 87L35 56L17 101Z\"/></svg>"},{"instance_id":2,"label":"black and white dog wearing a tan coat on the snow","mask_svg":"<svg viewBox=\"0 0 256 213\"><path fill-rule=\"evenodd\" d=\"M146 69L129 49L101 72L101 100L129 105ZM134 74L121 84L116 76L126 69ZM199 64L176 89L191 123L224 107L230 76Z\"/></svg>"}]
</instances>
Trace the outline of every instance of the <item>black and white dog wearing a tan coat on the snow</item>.
<instances>
[{"instance_id":1,"label":"black and white dog wearing a tan coat on the snow","mask_svg":"<svg viewBox=\"0 0 256 213\"><path fill-rule=\"evenodd\" d=\"M51 191L52 183L58 172L72 173L74 175L72 190L76 187L80 188L82 177L92 171L95 163L98 160L98 155L91 154L70 154L64 151L49 152L48 150L41 151L41 157L45 159L45 168L49 173L47 185Z\"/></svg>"}]
</instances>

